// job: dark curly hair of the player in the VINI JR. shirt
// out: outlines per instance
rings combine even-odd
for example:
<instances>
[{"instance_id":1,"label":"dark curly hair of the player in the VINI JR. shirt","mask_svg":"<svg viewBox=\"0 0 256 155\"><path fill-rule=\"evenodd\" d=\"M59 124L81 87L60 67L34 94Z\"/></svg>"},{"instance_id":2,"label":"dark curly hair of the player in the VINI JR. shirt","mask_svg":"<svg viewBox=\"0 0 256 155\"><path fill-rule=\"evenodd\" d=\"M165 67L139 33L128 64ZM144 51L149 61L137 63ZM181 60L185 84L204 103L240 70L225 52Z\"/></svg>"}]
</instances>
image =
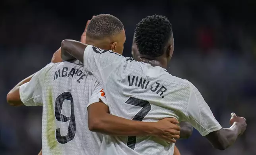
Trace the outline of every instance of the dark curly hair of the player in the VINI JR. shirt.
<instances>
[{"instance_id":1,"label":"dark curly hair of the player in the VINI JR. shirt","mask_svg":"<svg viewBox=\"0 0 256 155\"><path fill-rule=\"evenodd\" d=\"M163 55L166 43L172 36L172 25L162 15L147 16L135 29L135 43L141 54L150 57Z\"/></svg>"}]
</instances>

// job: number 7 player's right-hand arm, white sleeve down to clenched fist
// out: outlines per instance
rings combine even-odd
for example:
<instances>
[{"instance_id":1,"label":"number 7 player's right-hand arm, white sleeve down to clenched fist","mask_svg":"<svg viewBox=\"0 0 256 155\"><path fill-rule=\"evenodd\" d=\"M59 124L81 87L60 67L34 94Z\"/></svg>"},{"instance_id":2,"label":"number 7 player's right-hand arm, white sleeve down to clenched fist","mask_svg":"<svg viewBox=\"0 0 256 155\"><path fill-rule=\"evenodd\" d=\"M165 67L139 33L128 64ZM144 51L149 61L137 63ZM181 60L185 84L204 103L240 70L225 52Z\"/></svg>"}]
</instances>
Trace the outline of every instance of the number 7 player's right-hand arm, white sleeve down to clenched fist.
<instances>
[{"instance_id":1,"label":"number 7 player's right-hand arm, white sleeve down to clenched fist","mask_svg":"<svg viewBox=\"0 0 256 155\"><path fill-rule=\"evenodd\" d=\"M231 113L231 127L228 129L222 128L213 116L211 109L198 89L196 89L192 83L189 84L190 99L185 112L188 114L188 117L186 117L187 121L189 121L202 136L205 136L214 148L224 150L231 146L237 137L244 132L246 120L242 117L237 117L235 113ZM195 115L193 112L193 108L196 106L198 107L197 111L200 117L197 117L198 114Z\"/></svg>"}]
</instances>

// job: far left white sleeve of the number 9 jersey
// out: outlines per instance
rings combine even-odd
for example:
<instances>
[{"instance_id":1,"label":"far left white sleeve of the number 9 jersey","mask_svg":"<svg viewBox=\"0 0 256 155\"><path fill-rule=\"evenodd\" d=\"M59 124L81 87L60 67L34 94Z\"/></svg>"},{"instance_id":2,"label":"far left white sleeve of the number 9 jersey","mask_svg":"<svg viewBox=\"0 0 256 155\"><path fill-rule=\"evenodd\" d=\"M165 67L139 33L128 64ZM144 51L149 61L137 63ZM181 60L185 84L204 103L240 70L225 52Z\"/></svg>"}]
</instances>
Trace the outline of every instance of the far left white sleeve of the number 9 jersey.
<instances>
[{"instance_id":1,"label":"far left white sleeve of the number 9 jersey","mask_svg":"<svg viewBox=\"0 0 256 155\"><path fill-rule=\"evenodd\" d=\"M43 70L43 69L42 69ZM19 88L19 96L21 102L25 106L42 106L42 86L40 83L40 75L42 70L37 72L29 82L24 83Z\"/></svg>"}]
</instances>

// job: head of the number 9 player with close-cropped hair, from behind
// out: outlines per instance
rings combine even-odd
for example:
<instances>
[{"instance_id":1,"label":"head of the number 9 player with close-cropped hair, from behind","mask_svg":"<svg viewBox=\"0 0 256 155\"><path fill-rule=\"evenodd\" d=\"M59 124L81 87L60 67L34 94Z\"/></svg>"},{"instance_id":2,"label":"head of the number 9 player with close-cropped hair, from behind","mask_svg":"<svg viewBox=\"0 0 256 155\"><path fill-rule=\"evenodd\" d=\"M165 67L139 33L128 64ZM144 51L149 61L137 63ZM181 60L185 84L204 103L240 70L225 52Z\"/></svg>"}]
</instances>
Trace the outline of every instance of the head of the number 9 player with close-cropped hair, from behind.
<instances>
[{"instance_id":1,"label":"head of the number 9 player with close-cropped hair, from behind","mask_svg":"<svg viewBox=\"0 0 256 155\"><path fill-rule=\"evenodd\" d=\"M87 27L85 42L90 45L122 55L125 40L124 25L113 15L97 15Z\"/></svg>"}]
</instances>

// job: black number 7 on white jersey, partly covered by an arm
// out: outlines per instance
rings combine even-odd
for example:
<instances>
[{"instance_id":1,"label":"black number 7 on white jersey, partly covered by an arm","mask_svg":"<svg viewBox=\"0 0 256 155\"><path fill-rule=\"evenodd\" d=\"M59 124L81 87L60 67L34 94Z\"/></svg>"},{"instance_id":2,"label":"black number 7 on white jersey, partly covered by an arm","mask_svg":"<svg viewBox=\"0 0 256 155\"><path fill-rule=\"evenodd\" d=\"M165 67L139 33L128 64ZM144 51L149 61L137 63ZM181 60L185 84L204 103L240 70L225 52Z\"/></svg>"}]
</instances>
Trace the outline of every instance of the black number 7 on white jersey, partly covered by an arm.
<instances>
[{"instance_id":1,"label":"black number 7 on white jersey, partly covered by an arm","mask_svg":"<svg viewBox=\"0 0 256 155\"><path fill-rule=\"evenodd\" d=\"M125 103L131 104L134 106L140 106L143 107L140 112L138 112L132 120L134 121L142 121L144 117L149 113L151 110L151 105L147 100L142 100L140 98L130 97ZM127 140L127 146L131 149L135 149L136 145L136 138L137 136L129 136Z\"/></svg>"}]
</instances>

